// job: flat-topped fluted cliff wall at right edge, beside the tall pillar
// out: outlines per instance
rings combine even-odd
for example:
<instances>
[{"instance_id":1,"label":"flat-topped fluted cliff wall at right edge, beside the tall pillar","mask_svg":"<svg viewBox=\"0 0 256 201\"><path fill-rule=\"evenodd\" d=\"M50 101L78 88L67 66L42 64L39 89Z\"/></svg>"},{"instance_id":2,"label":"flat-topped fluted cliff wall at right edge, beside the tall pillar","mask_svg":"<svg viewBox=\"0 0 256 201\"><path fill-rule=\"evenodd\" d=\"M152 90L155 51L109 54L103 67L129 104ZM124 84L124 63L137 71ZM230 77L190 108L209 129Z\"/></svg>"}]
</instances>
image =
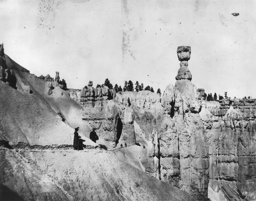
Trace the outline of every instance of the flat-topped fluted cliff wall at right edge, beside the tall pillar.
<instances>
[{"instance_id":1,"label":"flat-topped fluted cliff wall at right edge, beside the tall pillar","mask_svg":"<svg viewBox=\"0 0 256 201\"><path fill-rule=\"evenodd\" d=\"M210 186L228 200L256 199L256 99L206 102Z\"/></svg>"}]
</instances>

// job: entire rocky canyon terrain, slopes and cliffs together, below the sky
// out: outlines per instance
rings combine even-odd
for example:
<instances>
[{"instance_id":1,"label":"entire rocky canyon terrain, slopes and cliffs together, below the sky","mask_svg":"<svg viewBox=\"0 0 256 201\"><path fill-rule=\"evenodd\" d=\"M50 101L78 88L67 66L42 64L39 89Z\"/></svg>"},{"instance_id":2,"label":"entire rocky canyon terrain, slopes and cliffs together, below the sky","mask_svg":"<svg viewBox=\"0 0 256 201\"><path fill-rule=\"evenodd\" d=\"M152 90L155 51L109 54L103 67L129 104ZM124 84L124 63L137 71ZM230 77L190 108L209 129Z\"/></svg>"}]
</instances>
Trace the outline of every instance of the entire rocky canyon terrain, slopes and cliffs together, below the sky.
<instances>
[{"instance_id":1,"label":"entire rocky canyon terrain, slopes and cliffs together, below the sky","mask_svg":"<svg viewBox=\"0 0 256 201\"><path fill-rule=\"evenodd\" d=\"M24 200L256 200L256 99L206 101L190 54L178 47L160 99L93 81L63 90L59 72L32 75L0 45L1 188ZM75 127L85 150L72 150Z\"/></svg>"}]
</instances>

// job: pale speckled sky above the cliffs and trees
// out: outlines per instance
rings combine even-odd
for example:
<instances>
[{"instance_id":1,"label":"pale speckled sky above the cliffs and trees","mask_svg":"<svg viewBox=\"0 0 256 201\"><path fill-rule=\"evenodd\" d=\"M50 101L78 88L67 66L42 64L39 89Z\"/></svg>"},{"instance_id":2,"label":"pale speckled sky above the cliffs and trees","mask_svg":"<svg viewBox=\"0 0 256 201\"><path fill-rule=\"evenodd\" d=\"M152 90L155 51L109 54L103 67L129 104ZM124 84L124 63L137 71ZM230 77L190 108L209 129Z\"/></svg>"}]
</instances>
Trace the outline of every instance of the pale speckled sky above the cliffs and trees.
<instances>
[{"instance_id":1,"label":"pale speckled sky above the cliffs and trees","mask_svg":"<svg viewBox=\"0 0 256 201\"><path fill-rule=\"evenodd\" d=\"M191 46L191 82L256 98L256 1L0 0L5 53L68 88L108 78L155 92L175 85L178 46ZM232 13L239 13L233 16Z\"/></svg>"}]
</instances>

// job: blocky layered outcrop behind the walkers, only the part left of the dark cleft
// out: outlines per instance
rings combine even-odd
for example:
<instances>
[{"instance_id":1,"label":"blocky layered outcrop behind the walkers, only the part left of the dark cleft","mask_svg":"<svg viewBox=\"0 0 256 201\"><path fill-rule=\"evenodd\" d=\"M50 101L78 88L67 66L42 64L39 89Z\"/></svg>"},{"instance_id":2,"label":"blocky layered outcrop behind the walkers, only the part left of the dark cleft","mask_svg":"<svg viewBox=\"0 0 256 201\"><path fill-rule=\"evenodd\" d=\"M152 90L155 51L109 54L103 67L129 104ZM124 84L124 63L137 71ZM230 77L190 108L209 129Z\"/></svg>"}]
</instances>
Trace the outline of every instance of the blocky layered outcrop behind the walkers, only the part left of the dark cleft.
<instances>
[{"instance_id":1,"label":"blocky layered outcrop behind the walkers, only the part left of the dark cleft","mask_svg":"<svg viewBox=\"0 0 256 201\"><path fill-rule=\"evenodd\" d=\"M119 121L118 107L113 101L115 92L108 87L84 87L80 94L82 119L96 129L99 138L108 146L115 147L118 142L117 127Z\"/></svg>"}]
</instances>

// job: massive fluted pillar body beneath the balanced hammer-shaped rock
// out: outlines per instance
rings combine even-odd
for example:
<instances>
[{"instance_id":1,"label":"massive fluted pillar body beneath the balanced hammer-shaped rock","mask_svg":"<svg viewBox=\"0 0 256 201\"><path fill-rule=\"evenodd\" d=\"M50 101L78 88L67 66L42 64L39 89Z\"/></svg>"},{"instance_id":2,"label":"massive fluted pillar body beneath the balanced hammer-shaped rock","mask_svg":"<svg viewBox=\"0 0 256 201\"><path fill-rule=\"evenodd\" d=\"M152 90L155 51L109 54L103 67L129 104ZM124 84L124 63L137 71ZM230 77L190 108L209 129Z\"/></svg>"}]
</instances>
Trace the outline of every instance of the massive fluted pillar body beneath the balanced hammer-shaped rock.
<instances>
[{"instance_id":1,"label":"massive fluted pillar body beneath the balanced hammer-shaped rock","mask_svg":"<svg viewBox=\"0 0 256 201\"><path fill-rule=\"evenodd\" d=\"M167 86L162 98L163 122L159 135L161 180L207 199L209 159L204 123L199 116L201 97L188 79ZM154 140L155 142L156 140Z\"/></svg>"}]
</instances>

